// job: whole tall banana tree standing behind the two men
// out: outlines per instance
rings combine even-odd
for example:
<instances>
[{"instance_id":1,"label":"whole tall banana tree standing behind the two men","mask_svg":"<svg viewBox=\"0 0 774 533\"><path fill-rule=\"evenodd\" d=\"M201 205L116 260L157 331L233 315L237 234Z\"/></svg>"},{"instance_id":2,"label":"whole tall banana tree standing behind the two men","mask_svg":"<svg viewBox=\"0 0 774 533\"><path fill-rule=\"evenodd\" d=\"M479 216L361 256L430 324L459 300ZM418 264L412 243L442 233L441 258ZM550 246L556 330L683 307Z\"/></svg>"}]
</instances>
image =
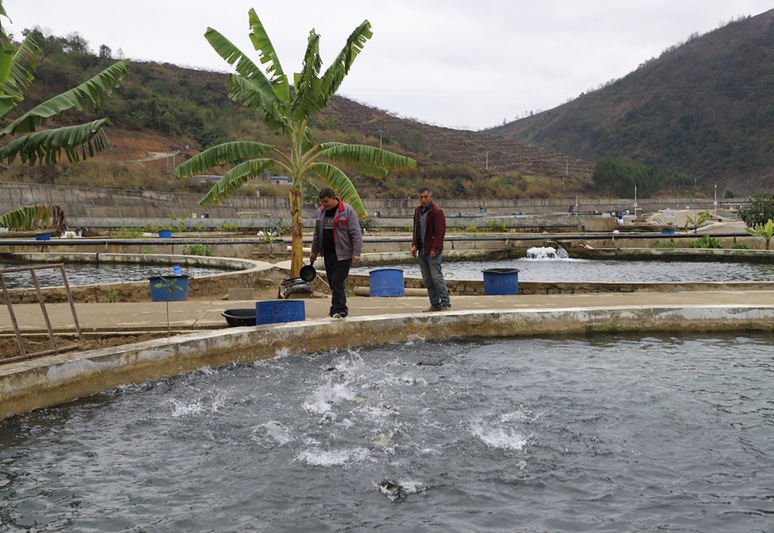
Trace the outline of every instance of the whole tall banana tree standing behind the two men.
<instances>
[{"instance_id":1,"label":"whole tall banana tree standing behind the two men","mask_svg":"<svg viewBox=\"0 0 774 533\"><path fill-rule=\"evenodd\" d=\"M325 181L343 201L350 204L358 216L366 210L349 177L332 162L354 165L357 172L383 178L390 170L410 170L416 161L371 146L337 142L315 144L309 120L328 105L339 89L357 55L370 39L371 23L358 26L347 39L344 48L325 73L320 76L320 36L312 30L300 73L293 78L291 88L274 46L255 10L248 13L250 39L266 74L228 39L212 28L204 36L215 51L236 74L229 75L226 86L229 97L261 116L263 123L277 136L287 140L288 149L251 141L229 142L210 148L189 159L174 170L178 178L187 178L213 167L235 164L210 189L200 205L218 205L234 194L248 179L261 176L269 169L278 169L292 180L290 206L293 219L293 259L291 275L297 277L303 263L303 228L301 208L303 180L307 175Z\"/></svg>"}]
</instances>

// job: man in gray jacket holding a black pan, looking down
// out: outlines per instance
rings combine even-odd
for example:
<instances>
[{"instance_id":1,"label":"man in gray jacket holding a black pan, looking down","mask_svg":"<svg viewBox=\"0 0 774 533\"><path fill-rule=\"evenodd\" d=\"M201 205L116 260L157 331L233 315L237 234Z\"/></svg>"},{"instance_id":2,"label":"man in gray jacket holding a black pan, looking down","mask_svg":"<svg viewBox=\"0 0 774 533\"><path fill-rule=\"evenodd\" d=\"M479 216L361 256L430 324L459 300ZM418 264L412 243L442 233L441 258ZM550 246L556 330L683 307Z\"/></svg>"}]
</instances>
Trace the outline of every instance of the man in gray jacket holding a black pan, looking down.
<instances>
[{"instance_id":1,"label":"man in gray jacket holding a black pan, looking down","mask_svg":"<svg viewBox=\"0 0 774 533\"><path fill-rule=\"evenodd\" d=\"M331 287L330 318L346 318L347 309L346 281L349 267L360 262L363 250L363 236L360 233L360 221L357 213L349 204L345 204L331 189L320 191L320 209L315 214L312 263L322 252L325 260L325 274Z\"/></svg>"}]
</instances>

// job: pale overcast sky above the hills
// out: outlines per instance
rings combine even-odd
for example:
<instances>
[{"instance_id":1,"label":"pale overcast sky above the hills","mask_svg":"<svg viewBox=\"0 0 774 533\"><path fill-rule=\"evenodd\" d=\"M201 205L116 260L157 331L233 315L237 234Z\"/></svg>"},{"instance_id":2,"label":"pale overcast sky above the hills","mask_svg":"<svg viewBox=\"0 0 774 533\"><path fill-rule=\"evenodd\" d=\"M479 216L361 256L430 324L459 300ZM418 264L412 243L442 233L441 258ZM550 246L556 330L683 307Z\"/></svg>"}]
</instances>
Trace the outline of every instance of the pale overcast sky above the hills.
<instances>
[{"instance_id":1,"label":"pale overcast sky above the hills","mask_svg":"<svg viewBox=\"0 0 774 533\"><path fill-rule=\"evenodd\" d=\"M4 0L17 38L40 26L80 33L92 50L228 72L211 26L248 55L247 11L267 28L286 73L309 31L323 69L364 19L374 36L339 93L401 117L483 129L547 110L620 78L694 32L771 9L764 0ZM292 78L291 78L292 80ZM225 89L224 89L225 90Z\"/></svg>"}]
</instances>

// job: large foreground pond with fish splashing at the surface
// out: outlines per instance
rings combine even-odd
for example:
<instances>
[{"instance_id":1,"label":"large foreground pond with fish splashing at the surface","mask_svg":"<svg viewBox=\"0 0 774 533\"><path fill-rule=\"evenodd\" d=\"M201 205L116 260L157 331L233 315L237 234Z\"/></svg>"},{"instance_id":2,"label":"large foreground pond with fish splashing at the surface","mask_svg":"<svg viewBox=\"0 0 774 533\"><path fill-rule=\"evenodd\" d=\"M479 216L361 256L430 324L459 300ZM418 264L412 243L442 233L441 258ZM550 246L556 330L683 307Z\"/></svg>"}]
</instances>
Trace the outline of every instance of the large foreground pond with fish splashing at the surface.
<instances>
[{"instance_id":1,"label":"large foreground pond with fish splashing at the surface","mask_svg":"<svg viewBox=\"0 0 774 533\"><path fill-rule=\"evenodd\" d=\"M772 340L416 342L122 387L0 423L0 523L769 531Z\"/></svg>"}]
</instances>

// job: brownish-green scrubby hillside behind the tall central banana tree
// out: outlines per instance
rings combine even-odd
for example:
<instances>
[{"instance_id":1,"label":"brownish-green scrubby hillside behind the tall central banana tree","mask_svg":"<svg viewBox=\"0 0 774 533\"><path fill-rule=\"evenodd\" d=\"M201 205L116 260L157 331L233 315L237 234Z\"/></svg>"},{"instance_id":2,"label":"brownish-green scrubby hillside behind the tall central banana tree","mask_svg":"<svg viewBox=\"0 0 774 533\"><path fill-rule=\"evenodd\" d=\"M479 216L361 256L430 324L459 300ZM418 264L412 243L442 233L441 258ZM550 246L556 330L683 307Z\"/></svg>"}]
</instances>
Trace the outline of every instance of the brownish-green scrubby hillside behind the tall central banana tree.
<instances>
[{"instance_id":1,"label":"brownish-green scrubby hillside behind the tall central banana tree","mask_svg":"<svg viewBox=\"0 0 774 533\"><path fill-rule=\"evenodd\" d=\"M114 59L99 57L83 41L45 36L33 29L43 49L36 80L15 115L93 76ZM224 63L224 68L226 67ZM0 179L100 187L169 188L200 192L203 184L170 181L181 158L221 142L254 139L283 144L247 109L228 99L226 74L152 62L132 63L131 74L105 105L88 113L66 114L60 125L107 116L109 150L93 161L53 168L0 169ZM484 133L439 128L401 119L346 98L334 97L311 124L317 141L380 143L418 161L410 173L383 181L360 177L357 186L368 197L413 195L418 184L432 184L447 197L573 196L590 184L593 163L555 151ZM164 154L177 154L165 157ZM103 163L108 166L95 167ZM140 170L141 169L141 170ZM217 169L215 173L225 169ZM350 169L351 170L351 169ZM136 174L141 174L136 176ZM350 173L350 175L353 175ZM247 188L246 194L255 194ZM286 194L260 185L262 194Z\"/></svg>"}]
</instances>

